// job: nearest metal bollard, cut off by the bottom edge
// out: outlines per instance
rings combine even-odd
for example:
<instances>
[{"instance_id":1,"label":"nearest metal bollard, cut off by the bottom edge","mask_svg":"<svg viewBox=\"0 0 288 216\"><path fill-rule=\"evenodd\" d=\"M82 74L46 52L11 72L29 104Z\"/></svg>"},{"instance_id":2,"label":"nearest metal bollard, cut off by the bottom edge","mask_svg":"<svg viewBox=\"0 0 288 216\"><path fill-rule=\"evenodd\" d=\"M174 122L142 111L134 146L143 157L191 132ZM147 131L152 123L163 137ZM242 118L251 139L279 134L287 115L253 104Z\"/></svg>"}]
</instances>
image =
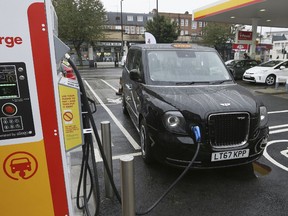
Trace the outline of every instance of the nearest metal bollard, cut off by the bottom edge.
<instances>
[{"instance_id":1,"label":"nearest metal bollard, cut off by the bottom edge","mask_svg":"<svg viewBox=\"0 0 288 216\"><path fill-rule=\"evenodd\" d=\"M135 216L134 157L122 156L120 162L122 216Z\"/></svg>"}]
</instances>

